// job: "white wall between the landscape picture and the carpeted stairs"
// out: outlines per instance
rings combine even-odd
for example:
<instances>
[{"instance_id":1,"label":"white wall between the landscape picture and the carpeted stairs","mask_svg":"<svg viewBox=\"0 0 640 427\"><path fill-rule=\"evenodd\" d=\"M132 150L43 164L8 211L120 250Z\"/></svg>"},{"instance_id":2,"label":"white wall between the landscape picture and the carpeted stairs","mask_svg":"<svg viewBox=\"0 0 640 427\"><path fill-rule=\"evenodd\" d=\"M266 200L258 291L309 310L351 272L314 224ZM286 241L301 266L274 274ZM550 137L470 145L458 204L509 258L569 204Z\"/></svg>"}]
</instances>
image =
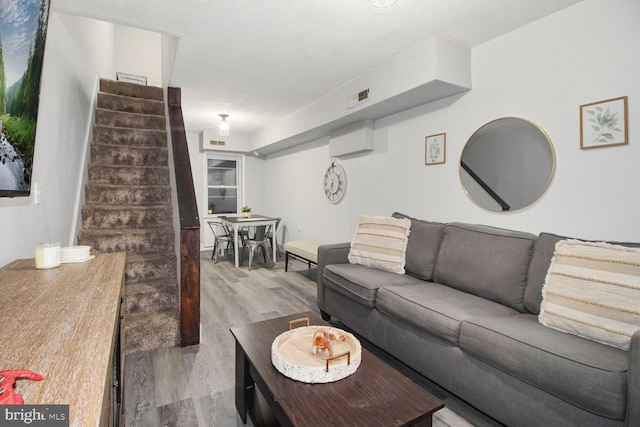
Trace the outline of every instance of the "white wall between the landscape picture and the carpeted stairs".
<instances>
[{"instance_id":1,"label":"white wall between the landscape picture and the carpeted stairs","mask_svg":"<svg viewBox=\"0 0 640 427\"><path fill-rule=\"evenodd\" d=\"M113 74L113 25L52 10L33 162L41 203L0 199L0 265L33 258L38 243L69 245L91 139L98 75Z\"/></svg>"}]
</instances>

